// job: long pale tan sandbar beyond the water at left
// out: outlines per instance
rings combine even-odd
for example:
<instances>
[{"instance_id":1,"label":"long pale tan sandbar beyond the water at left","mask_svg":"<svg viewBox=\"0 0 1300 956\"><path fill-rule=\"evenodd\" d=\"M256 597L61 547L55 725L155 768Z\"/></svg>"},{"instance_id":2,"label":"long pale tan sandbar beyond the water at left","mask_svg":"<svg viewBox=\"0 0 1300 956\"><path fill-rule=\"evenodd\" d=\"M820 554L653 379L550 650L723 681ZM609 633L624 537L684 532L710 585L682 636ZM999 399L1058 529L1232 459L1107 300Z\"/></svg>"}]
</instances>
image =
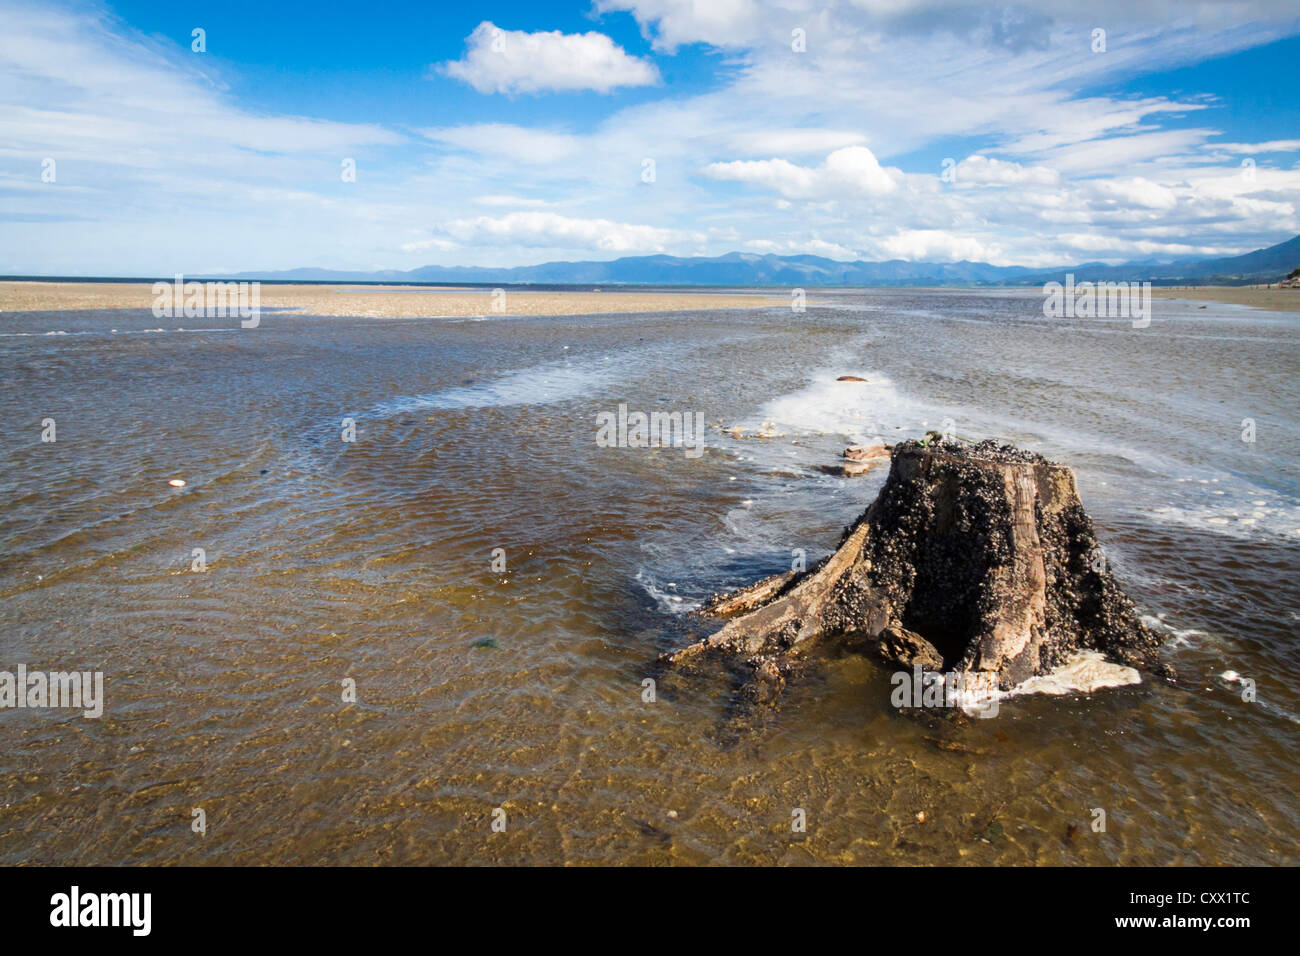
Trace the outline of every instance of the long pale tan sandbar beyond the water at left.
<instances>
[{"instance_id":1,"label":"long pale tan sandbar beyond the water at left","mask_svg":"<svg viewBox=\"0 0 1300 956\"><path fill-rule=\"evenodd\" d=\"M419 319L438 316L593 315L706 308L789 307L789 295L662 291L517 291L421 286L261 285L260 307L307 315ZM0 312L152 308L152 282L0 282Z\"/></svg>"}]
</instances>

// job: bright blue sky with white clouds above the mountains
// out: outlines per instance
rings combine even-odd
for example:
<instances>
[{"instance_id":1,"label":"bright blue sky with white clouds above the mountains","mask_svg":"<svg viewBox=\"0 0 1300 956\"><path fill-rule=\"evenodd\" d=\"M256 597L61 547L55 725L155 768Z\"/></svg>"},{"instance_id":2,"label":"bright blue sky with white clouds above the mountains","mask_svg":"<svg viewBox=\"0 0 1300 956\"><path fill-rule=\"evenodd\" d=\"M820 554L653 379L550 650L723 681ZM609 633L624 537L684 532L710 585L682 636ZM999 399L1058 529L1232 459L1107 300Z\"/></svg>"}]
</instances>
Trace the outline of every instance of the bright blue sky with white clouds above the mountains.
<instances>
[{"instance_id":1,"label":"bright blue sky with white clouds above the mountains","mask_svg":"<svg viewBox=\"0 0 1300 956\"><path fill-rule=\"evenodd\" d=\"M326 8L0 0L0 272L1057 265L1300 233L1291 0Z\"/></svg>"}]
</instances>

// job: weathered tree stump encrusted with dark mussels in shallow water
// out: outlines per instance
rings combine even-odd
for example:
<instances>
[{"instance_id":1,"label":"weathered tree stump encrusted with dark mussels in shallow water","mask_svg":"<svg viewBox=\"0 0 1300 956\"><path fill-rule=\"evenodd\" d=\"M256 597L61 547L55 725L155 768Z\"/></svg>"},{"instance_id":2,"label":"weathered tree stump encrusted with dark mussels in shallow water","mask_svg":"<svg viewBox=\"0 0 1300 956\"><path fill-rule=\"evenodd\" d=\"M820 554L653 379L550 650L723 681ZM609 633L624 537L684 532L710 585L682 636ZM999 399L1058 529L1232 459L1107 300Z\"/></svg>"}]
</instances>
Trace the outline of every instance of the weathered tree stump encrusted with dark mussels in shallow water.
<instances>
[{"instance_id":1,"label":"weathered tree stump encrusted with dark mussels in shallow water","mask_svg":"<svg viewBox=\"0 0 1300 956\"><path fill-rule=\"evenodd\" d=\"M901 442L835 554L719 598L725 626L666 659L783 661L838 640L1004 689L1075 650L1158 667L1160 637L1098 558L1066 466L993 441Z\"/></svg>"}]
</instances>

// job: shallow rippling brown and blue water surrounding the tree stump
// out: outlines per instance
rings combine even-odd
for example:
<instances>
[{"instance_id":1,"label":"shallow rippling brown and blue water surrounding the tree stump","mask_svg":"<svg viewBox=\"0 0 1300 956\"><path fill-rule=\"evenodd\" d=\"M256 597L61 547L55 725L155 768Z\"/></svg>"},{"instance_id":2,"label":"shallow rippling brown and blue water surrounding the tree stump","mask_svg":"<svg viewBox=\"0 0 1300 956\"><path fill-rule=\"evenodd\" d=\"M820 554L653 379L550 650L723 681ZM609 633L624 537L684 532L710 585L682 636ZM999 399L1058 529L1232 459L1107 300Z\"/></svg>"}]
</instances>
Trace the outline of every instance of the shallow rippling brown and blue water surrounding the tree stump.
<instances>
[{"instance_id":1,"label":"shallow rippling brown and blue water surrounding the tree stump","mask_svg":"<svg viewBox=\"0 0 1300 956\"><path fill-rule=\"evenodd\" d=\"M1297 862L1297 319L814 299L0 317L0 669L107 691L100 719L0 711L0 862ZM619 403L780 437L598 447ZM944 419L1076 470L1178 683L958 726L855 657L762 719L724 675L655 675L684 611L824 555L883 480L815 466Z\"/></svg>"}]
</instances>

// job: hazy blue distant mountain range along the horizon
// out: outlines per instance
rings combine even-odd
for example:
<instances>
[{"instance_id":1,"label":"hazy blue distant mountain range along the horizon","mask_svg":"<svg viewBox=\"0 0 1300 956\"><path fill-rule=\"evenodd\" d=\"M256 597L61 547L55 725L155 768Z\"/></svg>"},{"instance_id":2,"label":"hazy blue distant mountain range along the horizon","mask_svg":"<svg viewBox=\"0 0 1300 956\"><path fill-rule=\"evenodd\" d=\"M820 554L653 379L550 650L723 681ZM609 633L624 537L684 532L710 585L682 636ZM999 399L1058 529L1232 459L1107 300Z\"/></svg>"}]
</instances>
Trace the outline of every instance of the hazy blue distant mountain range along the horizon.
<instances>
[{"instance_id":1,"label":"hazy blue distant mountain range along the horizon","mask_svg":"<svg viewBox=\"0 0 1300 956\"><path fill-rule=\"evenodd\" d=\"M902 259L841 263L822 256L753 255L625 256L608 261L542 263L514 268L421 265L416 269L343 272L289 269L244 272L234 278L298 282L437 282L502 285L689 285L689 286L915 286L1039 285L1074 273L1076 281L1150 281L1156 285L1247 285L1274 282L1300 267L1300 235L1228 259L1174 263L1082 263L1058 269L988 263L909 263Z\"/></svg>"}]
</instances>

